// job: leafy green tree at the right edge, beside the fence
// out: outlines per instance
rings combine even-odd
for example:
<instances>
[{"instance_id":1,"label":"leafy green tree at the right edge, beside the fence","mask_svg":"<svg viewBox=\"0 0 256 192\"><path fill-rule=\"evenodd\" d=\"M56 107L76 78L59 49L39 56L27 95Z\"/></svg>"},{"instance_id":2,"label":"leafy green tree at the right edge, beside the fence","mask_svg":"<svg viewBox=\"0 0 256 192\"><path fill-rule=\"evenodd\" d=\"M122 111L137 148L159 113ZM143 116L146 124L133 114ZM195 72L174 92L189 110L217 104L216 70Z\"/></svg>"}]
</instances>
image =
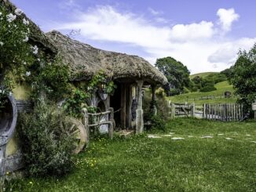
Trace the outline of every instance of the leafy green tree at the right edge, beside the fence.
<instances>
[{"instance_id":1,"label":"leafy green tree at the right edge, beside the fence","mask_svg":"<svg viewBox=\"0 0 256 192\"><path fill-rule=\"evenodd\" d=\"M256 100L256 43L249 52L240 51L230 78L236 94L240 96L247 110Z\"/></svg>"}]
</instances>

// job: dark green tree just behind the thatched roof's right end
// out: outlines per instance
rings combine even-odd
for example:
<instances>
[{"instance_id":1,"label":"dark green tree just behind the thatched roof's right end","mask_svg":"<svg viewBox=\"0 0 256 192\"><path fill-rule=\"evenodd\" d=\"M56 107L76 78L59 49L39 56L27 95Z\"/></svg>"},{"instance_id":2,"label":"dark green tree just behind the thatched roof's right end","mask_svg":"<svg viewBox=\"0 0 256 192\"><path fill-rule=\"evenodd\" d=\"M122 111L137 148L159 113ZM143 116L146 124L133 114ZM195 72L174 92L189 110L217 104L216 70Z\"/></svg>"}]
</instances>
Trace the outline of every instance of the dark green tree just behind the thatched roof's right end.
<instances>
[{"instance_id":1,"label":"dark green tree just behind the thatched roof's right end","mask_svg":"<svg viewBox=\"0 0 256 192\"><path fill-rule=\"evenodd\" d=\"M166 78L170 86L166 86L164 89L167 96L178 95L184 91L185 86L189 86L189 74L188 68L183 63L175 60L174 58L167 56L161 59L157 59L155 67L159 71L166 75Z\"/></svg>"}]
</instances>

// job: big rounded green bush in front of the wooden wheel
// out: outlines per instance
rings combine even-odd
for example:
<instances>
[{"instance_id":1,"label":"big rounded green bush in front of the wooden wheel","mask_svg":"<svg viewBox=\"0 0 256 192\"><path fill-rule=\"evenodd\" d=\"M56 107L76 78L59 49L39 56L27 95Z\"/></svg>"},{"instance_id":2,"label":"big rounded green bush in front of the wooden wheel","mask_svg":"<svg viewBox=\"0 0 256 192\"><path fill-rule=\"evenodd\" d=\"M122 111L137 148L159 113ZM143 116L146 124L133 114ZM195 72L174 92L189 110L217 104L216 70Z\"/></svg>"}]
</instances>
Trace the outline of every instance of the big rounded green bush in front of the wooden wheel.
<instances>
[{"instance_id":1,"label":"big rounded green bush in front of the wooden wheel","mask_svg":"<svg viewBox=\"0 0 256 192\"><path fill-rule=\"evenodd\" d=\"M45 103L21 116L18 130L28 175L60 176L71 171L75 142L68 128L61 126L65 119L61 110Z\"/></svg>"}]
</instances>

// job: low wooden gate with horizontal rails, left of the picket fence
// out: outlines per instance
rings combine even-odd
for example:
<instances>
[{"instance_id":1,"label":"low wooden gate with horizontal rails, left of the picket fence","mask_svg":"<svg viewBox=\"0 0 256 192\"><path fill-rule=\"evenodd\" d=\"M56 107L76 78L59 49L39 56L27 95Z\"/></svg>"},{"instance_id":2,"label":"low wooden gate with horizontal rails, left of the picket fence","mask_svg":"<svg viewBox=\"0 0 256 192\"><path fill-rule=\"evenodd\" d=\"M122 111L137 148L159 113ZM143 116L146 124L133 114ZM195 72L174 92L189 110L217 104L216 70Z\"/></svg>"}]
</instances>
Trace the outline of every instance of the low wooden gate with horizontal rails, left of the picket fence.
<instances>
[{"instance_id":1,"label":"low wooden gate with horizontal rails, left of the picket fence","mask_svg":"<svg viewBox=\"0 0 256 192\"><path fill-rule=\"evenodd\" d=\"M171 118L194 118L195 117L195 103L171 103Z\"/></svg>"}]
</instances>

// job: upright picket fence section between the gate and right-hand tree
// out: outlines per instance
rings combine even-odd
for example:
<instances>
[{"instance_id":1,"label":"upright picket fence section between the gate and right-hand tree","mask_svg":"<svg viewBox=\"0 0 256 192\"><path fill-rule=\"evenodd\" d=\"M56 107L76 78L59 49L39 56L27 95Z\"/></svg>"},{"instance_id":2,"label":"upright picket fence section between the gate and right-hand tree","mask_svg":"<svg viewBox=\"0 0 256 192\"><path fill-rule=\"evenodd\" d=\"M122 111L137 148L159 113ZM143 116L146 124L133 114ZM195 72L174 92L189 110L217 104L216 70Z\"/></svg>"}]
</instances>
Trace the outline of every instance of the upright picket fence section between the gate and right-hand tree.
<instances>
[{"instance_id":1,"label":"upright picket fence section between the gate and right-hand tree","mask_svg":"<svg viewBox=\"0 0 256 192\"><path fill-rule=\"evenodd\" d=\"M212 121L241 121L243 104L203 104L203 118Z\"/></svg>"}]
</instances>

